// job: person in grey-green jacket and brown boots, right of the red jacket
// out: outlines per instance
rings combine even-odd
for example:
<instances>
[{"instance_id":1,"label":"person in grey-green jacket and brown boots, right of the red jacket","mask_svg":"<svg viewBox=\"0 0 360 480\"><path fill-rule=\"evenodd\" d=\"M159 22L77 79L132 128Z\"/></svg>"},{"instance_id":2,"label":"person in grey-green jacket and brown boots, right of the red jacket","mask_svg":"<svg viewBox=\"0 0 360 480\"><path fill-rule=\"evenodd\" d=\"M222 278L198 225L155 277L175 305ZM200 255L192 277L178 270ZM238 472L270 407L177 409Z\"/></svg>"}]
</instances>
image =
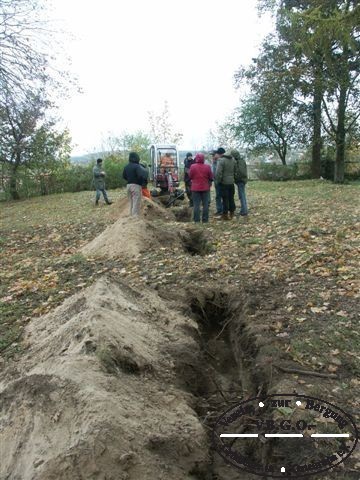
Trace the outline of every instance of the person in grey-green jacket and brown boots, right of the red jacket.
<instances>
[{"instance_id":1,"label":"person in grey-green jacket and brown boots, right of the red jacket","mask_svg":"<svg viewBox=\"0 0 360 480\"><path fill-rule=\"evenodd\" d=\"M218 161L216 168L216 181L221 185L221 196L223 200L222 220L229 220L234 217L235 212L235 178L237 177L237 164L231 152L225 152Z\"/></svg>"}]
</instances>

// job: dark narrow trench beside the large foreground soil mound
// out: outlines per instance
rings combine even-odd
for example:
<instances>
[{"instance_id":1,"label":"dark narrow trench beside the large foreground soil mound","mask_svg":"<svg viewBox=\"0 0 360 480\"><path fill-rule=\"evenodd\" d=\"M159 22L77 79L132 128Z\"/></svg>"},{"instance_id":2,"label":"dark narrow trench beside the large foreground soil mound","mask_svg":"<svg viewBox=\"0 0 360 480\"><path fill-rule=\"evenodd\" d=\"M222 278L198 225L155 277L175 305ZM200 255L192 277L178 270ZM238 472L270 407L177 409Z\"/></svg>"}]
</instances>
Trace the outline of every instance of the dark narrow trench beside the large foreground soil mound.
<instances>
[{"instance_id":1,"label":"dark narrow trench beside the large foreground soil mound","mask_svg":"<svg viewBox=\"0 0 360 480\"><path fill-rule=\"evenodd\" d=\"M209 432L209 464L206 470L193 472L199 480L249 480L252 474L229 466L212 448L212 429L218 417L230 407L251 396L264 394L265 383L259 383L252 372L255 347L243 334L244 298L233 298L221 291L194 296L190 308L199 325L201 369L192 393L197 398L196 412ZM201 370L201 371L199 371ZM254 456L251 442L248 455ZM264 458L264 446L256 452Z\"/></svg>"}]
</instances>

